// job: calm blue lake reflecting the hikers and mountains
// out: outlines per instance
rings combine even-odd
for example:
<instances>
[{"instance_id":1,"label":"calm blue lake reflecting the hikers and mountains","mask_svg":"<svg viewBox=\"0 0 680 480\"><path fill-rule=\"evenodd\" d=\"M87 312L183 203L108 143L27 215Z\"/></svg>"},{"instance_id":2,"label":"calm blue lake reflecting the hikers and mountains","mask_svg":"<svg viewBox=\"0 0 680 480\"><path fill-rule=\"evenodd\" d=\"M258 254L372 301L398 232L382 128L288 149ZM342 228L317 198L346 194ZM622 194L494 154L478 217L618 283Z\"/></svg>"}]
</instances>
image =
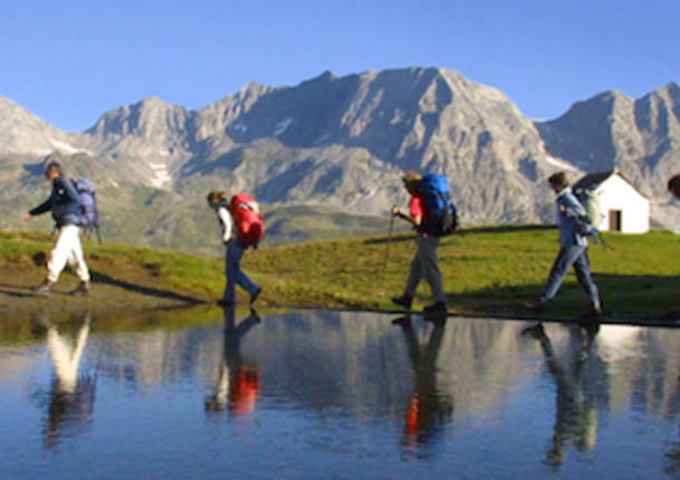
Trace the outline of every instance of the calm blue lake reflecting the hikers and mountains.
<instances>
[{"instance_id":1,"label":"calm blue lake reflecting the hikers and mountains","mask_svg":"<svg viewBox=\"0 0 680 480\"><path fill-rule=\"evenodd\" d=\"M680 478L680 331L397 319L36 315L0 478Z\"/></svg>"}]
</instances>

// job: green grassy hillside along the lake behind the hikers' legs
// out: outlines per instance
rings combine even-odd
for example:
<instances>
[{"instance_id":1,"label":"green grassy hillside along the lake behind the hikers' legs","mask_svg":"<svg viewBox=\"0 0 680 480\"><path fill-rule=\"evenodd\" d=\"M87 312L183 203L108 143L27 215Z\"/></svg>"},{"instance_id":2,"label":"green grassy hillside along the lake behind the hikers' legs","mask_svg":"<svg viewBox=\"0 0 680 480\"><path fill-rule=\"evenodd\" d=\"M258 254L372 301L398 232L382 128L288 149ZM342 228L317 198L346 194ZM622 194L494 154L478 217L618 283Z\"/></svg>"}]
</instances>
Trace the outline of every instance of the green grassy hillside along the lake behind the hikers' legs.
<instances>
[{"instance_id":1,"label":"green grassy hillside along the lake behind the hikers' legs","mask_svg":"<svg viewBox=\"0 0 680 480\"><path fill-rule=\"evenodd\" d=\"M444 238L439 258L449 310L525 313L521 303L541 292L557 252L556 238L555 229L540 226L477 228ZM590 251L606 315L649 319L680 311L679 236L652 232L605 238L611 248L594 245ZM35 257L50 246L45 234L0 233L0 308L26 310L35 303L26 286L42 278L45 271ZM392 310L389 298L402 291L414 248L410 234L389 243L385 236L300 243L249 251L243 267L263 285L263 304ZM212 301L224 285L221 258L110 243L88 242L86 251L96 282L88 302L100 306L149 306L153 301L142 300L149 296L177 303ZM75 278L65 275L58 287L69 282ZM50 302L68 308L71 298L60 295ZM422 284L416 307L428 301ZM572 273L546 314L573 316L586 307Z\"/></svg>"}]
</instances>

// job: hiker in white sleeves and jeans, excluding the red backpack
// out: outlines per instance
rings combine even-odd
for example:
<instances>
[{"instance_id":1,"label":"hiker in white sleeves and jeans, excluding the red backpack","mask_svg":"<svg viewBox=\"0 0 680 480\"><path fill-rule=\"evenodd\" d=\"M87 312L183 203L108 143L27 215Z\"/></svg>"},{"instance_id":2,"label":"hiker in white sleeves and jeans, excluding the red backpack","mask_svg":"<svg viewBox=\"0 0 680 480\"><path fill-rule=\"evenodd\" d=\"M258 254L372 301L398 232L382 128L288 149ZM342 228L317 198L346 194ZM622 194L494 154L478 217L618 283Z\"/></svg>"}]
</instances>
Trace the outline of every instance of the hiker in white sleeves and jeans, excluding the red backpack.
<instances>
[{"instance_id":1,"label":"hiker in white sleeves and jeans, excluding the red backpack","mask_svg":"<svg viewBox=\"0 0 680 480\"><path fill-rule=\"evenodd\" d=\"M207 205L217 215L222 226L222 241L226 245L226 286L222 298L217 303L223 306L233 306L236 302L236 285L240 285L250 294L250 303L252 305L258 300L262 288L241 271L241 258L247 245L243 244L237 232L235 232L236 228L229 205L229 195L225 192L211 192L206 199Z\"/></svg>"}]
</instances>

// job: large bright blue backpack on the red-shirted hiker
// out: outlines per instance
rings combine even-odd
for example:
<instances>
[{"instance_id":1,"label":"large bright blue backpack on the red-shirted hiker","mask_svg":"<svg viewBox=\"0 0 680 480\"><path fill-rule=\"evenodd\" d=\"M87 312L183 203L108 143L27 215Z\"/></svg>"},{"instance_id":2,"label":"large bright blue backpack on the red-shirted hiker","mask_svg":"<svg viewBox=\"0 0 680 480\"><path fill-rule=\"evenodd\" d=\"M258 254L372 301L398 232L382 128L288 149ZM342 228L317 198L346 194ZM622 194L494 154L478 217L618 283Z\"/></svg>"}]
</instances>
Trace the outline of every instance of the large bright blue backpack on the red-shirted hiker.
<instances>
[{"instance_id":1,"label":"large bright blue backpack on the red-shirted hiker","mask_svg":"<svg viewBox=\"0 0 680 480\"><path fill-rule=\"evenodd\" d=\"M420 183L420 194L425 198L429 217L420 229L434 236L451 234L458 226L458 214L450 198L448 178L440 174L425 175Z\"/></svg>"}]
</instances>

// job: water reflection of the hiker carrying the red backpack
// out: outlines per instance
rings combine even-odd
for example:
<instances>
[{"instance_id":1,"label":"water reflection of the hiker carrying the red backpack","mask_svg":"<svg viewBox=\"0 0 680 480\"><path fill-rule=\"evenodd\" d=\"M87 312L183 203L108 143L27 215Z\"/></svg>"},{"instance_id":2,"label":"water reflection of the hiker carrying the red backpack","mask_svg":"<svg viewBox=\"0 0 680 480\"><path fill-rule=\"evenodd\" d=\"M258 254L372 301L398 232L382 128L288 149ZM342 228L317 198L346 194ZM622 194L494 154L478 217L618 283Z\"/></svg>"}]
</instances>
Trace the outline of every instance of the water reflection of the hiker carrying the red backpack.
<instances>
[{"instance_id":1,"label":"water reflection of the hiker carrying the red backpack","mask_svg":"<svg viewBox=\"0 0 680 480\"><path fill-rule=\"evenodd\" d=\"M220 412L225 408L234 417L244 417L255 408L260 394L260 366L243 362L241 340L258 323L260 317L251 308L251 314L236 325L234 308L224 308L224 351L215 393L205 399L207 411Z\"/></svg>"}]
</instances>

